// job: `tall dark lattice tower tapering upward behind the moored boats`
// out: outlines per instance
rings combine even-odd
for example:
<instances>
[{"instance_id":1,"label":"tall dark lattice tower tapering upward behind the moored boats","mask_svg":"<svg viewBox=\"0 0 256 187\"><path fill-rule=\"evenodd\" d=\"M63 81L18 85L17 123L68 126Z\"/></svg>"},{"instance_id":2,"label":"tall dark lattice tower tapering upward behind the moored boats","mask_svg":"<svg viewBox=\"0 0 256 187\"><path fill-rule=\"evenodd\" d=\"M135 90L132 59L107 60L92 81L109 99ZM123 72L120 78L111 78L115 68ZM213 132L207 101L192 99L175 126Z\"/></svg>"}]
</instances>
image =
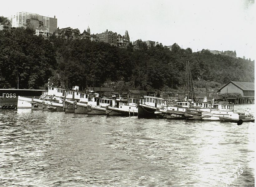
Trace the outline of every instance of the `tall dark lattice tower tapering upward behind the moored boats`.
<instances>
[{"instance_id":1,"label":"tall dark lattice tower tapering upward behind the moored boats","mask_svg":"<svg viewBox=\"0 0 256 187\"><path fill-rule=\"evenodd\" d=\"M184 84L184 97L185 98L191 98L192 101L195 101L196 98L194 96L194 87L193 87L193 81L192 76L190 72L189 67L189 61L186 61L186 73L185 73L185 84Z\"/></svg>"}]
</instances>

